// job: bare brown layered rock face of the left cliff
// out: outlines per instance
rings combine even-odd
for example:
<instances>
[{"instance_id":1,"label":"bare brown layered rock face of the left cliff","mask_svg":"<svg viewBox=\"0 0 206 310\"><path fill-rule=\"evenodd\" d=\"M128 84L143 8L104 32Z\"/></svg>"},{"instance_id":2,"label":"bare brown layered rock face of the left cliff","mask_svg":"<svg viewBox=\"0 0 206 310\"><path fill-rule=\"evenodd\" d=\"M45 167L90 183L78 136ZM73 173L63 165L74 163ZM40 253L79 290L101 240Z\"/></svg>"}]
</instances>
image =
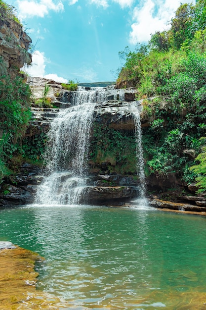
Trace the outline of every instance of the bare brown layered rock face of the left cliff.
<instances>
[{"instance_id":1,"label":"bare brown layered rock face of the left cliff","mask_svg":"<svg viewBox=\"0 0 206 310\"><path fill-rule=\"evenodd\" d=\"M11 18L0 17L1 70L5 69L9 75L14 76L25 63L31 64L32 57L28 53L31 42L19 23Z\"/></svg>"}]
</instances>

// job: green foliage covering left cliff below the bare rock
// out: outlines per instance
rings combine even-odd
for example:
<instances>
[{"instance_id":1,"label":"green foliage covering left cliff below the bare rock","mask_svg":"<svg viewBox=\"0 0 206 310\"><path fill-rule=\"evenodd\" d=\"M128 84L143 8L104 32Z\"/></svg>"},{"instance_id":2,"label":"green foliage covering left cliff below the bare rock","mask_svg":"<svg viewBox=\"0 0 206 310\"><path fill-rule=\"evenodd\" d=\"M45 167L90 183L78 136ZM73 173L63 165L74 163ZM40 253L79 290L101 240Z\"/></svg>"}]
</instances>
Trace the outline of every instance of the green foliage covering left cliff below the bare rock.
<instances>
[{"instance_id":1,"label":"green foliage covering left cliff below the bare rock","mask_svg":"<svg viewBox=\"0 0 206 310\"><path fill-rule=\"evenodd\" d=\"M19 148L29 120L31 91L20 77L0 77L0 179Z\"/></svg>"}]
</instances>

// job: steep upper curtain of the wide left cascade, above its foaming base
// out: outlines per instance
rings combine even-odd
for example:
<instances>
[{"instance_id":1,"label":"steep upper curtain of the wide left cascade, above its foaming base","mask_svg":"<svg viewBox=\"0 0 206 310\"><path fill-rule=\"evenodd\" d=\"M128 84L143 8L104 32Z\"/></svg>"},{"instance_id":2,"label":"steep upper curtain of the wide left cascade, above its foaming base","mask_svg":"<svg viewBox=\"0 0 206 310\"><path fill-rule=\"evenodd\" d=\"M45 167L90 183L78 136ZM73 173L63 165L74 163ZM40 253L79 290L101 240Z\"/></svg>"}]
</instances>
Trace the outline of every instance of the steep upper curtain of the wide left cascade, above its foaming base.
<instances>
[{"instance_id":1,"label":"steep upper curtain of the wide left cascade, above its foaming base","mask_svg":"<svg viewBox=\"0 0 206 310\"><path fill-rule=\"evenodd\" d=\"M47 171L85 176L89 131L95 104L84 103L59 112L51 123L45 154Z\"/></svg>"}]
</instances>

